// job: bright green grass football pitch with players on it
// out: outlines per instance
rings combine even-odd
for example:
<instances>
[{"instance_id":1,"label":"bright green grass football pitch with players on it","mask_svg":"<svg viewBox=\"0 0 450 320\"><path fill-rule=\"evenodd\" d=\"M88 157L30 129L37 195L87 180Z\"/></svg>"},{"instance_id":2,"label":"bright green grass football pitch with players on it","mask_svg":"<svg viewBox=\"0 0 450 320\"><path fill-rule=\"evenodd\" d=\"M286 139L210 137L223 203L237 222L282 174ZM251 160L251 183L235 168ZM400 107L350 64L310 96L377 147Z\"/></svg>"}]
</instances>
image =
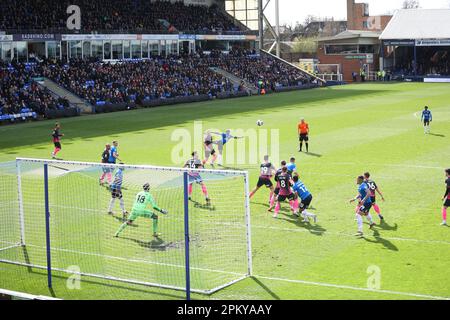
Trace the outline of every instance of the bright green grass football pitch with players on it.
<instances>
[{"instance_id":1,"label":"bright green grass football pitch with players on it","mask_svg":"<svg viewBox=\"0 0 450 320\"><path fill-rule=\"evenodd\" d=\"M433 112L429 135L424 134L420 123L420 111L425 105ZM310 154L298 152L296 126L301 117L311 128ZM450 228L439 226L444 169L450 166L450 85L358 84L61 119L65 137L58 156L99 162L104 144L118 140L121 159L127 164L174 166L172 152L177 144L171 139L174 130L192 131L194 121L202 121L205 130L257 129L258 119L264 120L263 129L279 130L280 160L289 160L291 156L297 159L300 177L314 196L312 212L319 220L317 224L302 223L287 210L286 203L279 218L272 218L267 212L268 191L261 189L251 200L254 276L210 296L193 294L194 299L450 299ZM53 150L50 142L53 124L41 121L0 127L0 163L14 161L16 157L48 159ZM256 184L259 165L230 167L248 170L250 187ZM354 236L357 231L354 205L348 200L357 193L355 178L365 171L372 174L386 198L385 202L379 202L386 221L380 224L372 212L377 226L369 230L365 224L365 236L360 239ZM11 177L2 179L3 187L14 183L8 180ZM95 192L97 197L101 187L95 179L91 180L92 183L80 180L79 187ZM60 183L58 196L76 207L77 195L71 193L70 184L64 179ZM213 203L220 201L221 192L227 193L227 199L233 199L233 187L223 189L215 190L211 196ZM134 198L132 191L124 192L128 209ZM109 231L113 233L120 225L107 215L109 194L101 192L98 194L105 204L104 216L83 218L80 222L72 219L70 212L65 213L60 217L62 229L57 231L55 243L62 247L70 242L70 246L79 243L94 248L98 242L105 242L111 254L115 250L130 250L143 257L161 255L149 245L150 233L142 231L151 228L149 222L142 221L137 228L127 229L128 239L99 237ZM164 201L173 201L173 206L177 206L181 198L180 193L174 193L172 199ZM225 204L218 204L217 210L207 212L203 218L220 221L220 205ZM0 214L7 213L0 210ZM166 233L182 232L181 227L168 226L170 214L166 222L165 218L161 217L160 223L163 234L164 228ZM41 220L35 221L42 223L39 228L44 228L43 214ZM77 234L77 223L88 226L89 234L96 234L95 239ZM101 224L101 233L97 232L96 223ZM139 228L139 232L133 230ZM4 227L0 230L6 232ZM222 232L220 237L227 239L227 230ZM234 240L243 241L241 238ZM232 241L230 237L217 244L202 257L205 264L227 247L240 245ZM176 246L171 252L174 261L183 259ZM45 252L31 249L28 258L44 261ZM69 260L70 255L65 262ZM101 261L89 257L72 264L83 267L84 263L101 269ZM115 267L112 271L118 275L131 272L126 261ZM154 277L158 274L176 277L183 284L184 275L180 271L172 273L170 268L164 271L164 266L160 266L154 272ZM45 270L0 263L0 288L14 291L63 299L185 297L175 290L90 277L83 277L81 286L72 288L67 285L68 280L66 273L55 272L53 290L49 290Z\"/></svg>"}]
</instances>

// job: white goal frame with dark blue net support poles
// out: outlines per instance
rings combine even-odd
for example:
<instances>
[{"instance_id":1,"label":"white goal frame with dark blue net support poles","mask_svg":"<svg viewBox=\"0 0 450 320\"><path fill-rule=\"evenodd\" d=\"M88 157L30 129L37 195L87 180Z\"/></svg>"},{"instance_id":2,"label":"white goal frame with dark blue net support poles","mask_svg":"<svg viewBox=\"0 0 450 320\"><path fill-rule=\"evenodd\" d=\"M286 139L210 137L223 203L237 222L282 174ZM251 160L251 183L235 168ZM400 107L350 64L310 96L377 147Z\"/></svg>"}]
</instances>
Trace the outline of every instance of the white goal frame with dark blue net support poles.
<instances>
[{"instance_id":1,"label":"white goal frame with dark blue net support poles","mask_svg":"<svg viewBox=\"0 0 450 320\"><path fill-rule=\"evenodd\" d=\"M27 234L25 227L25 220L27 219L26 213L24 212L24 195L23 195L23 181L22 181L22 165L24 163L42 165L43 169L43 182L44 182L44 195L42 197L42 201L45 203L45 212L42 212L42 223L45 222L45 252L46 252L46 264L35 264L30 261L14 261L3 259L0 257L0 263L7 263L19 266L26 266L29 268L37 268L43 269L47 271L47 282L48 287L52 287L52 272L62 272L70 275L78 275L92 278L99 278L104 280L112 280L130 284L138 284L144 286L158 287L161 289L171 289L177 291L185 291L186 298L190 299L190 293L198 293L204 295L211 295L215 292L218 292L228 286L231 286L239 281L242 281L248 277L252 276L252 244L251 244L251 224L250 224L250 200L249 200L249 173L248 171L238 171L238 170L209 170L209 169L190 169L190 168L176 168L176 167L160 167L160 166L150 166L150 165L116 165L116 164L102 164L102 163L93 163L93 162L79 162L79 161L63 161L63 160L46 160L46 159L34 159L34 158L17 158L15 161L15 170L17 175L17 208L18 212L18 225L20 228L20 241L17 243L11 243L10 245L0 246L0 253L2 251L11 250L18 247L26 247L27 246ZM63 268L58 268L52 265L52 250L54 247L52 246L52 231L50 229L50 205L49 205L49 174L48 167L49 166L62 166L62 165L74 165L74 166L86 166L86 167L100 167L100 168L110 168L114 169L117 167L123 167L126 169L136 169L136 170L153 170L153 171L167 171L167 172L176 172L183 176L183 192L184 192L184 253L185 253L185 286L173 286L156 282L147 282L147 281L139 281L133 279L126 279L122 277L115 277L103 274L95 274L95 273L87 273L87 272L77 272L73 270L65 270ZM236 274L235 279L223 283L219 286L215 286L214 288L208 290L195 289L191 287L191 266L190 266L190 237L189 226L190 226L190 213L189 213L189 195L188 195L188 173L198 172L199 174L214 174L214 175L224 175L224 176L239 176L243 178L243 188L244 188L244 203L242 203L242 212L245 213L245 238L246 238L246 273L244 274ZM191 182L192 183L192 182ZM134 195L133 195L134 196ZM11 212L11 214L14 214ZM220 213L219 213L220 214ZM44 220L45 217L45 220ZM0 239L1 240L1 239Z\"/></svg>"}]
</instances>

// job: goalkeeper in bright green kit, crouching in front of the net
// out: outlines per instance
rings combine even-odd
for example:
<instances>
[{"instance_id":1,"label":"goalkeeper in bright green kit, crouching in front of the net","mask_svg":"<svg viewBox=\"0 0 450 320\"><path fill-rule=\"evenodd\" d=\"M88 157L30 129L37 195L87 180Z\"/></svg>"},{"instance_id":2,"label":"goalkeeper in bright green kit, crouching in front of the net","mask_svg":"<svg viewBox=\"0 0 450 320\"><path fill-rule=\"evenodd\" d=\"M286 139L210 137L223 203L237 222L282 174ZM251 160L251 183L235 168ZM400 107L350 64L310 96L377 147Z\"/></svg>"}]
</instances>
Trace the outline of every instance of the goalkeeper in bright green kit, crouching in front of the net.
<instances>
[{"instance_id":1,"label":"goalkeeper in bright green kit, crouching in front of the net","mask_svg":"<svg viewBox=\"0 0 450 320\"><path fill-rule=\"evenodd\" d=\"M128 217L128 220L123 223L119 230L117 230L115 237L118 237L119 234L128 226L133 223L138 217L150 218L153 219L153 236L158 238L161 234L158 233L158 215L152 211L152 209L162 213L167 214L167 211L159 208L155 200L153 200L152 195L150 194L150 184L146 183L143 186L144 191L139 192L136 195L136 200L133 204L133 209L131 210L131 215ZM151 209L148 207L151 206Z\"/></svg>"}]
</instances>

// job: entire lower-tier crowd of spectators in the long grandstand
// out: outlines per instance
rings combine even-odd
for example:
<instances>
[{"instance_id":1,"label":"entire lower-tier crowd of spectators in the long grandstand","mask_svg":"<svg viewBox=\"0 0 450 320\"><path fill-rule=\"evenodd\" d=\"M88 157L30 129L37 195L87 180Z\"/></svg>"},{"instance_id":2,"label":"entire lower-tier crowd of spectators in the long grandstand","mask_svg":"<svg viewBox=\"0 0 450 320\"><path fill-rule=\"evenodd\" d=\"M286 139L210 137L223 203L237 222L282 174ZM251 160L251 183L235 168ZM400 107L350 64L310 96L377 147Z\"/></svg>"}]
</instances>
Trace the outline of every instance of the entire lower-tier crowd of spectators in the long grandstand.
<instances>
[{"instance_id":1,"label":"entire lower-tier crowd of spectators in the long grandstand","mask_svg":"<svg viewBox=\"0 0 450 320\"><path fill-rule=\"evenodd\" d=\"M40 86L34 80L37 77L55 81L92 105L142 105L152 100L192 96L214 98L249 89L245 83L232 83L212 67L245 79L260 90L276 91L279 87L311 82L298 69L269 55L248 50L117 62L96 59L0 62L0 115L27 110L45 115L48 110L69 107L67 100L57 100L48 89Z\"/></svg>"}]
</instances>

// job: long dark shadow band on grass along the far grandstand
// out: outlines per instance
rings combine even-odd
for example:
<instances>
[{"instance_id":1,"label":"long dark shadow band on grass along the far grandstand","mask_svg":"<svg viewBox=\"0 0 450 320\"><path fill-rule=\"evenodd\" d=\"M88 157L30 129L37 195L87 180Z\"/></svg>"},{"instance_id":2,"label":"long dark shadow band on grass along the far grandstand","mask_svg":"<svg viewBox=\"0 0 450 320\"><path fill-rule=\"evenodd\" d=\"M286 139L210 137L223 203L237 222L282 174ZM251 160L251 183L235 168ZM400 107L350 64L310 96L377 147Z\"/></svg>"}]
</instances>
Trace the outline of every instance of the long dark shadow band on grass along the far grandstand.
<instances>
[{"instance_id":1,"label":"long dark shadow band on grass along the far grandstand","mask_svg":"<svg viewBox=\"0 0 450 320\"><path fill-rule=\"evenodd\" d=\"M133 111L123 111L114 114L96 114L63 119L62 131L65 139L72 142L73 139L92 141L93 138L108 136L120 139L121 134L129 132L142 132L144 130L163 130L168 126L179 126L193 122L194 120L217 119L220 117L232 117L245 112L253 113L262 110L273 110L295 105L296 110L311 106L311 103L323 105L326 101L336 99L367 98L371 95L379 95L386 90L367 89L340 89L330 90L325 93L322 89L307 91L280 93L272 96L253 96L234 99L230 101L215 100L202 103L179 104L162 106ZM300 99L299 99L300 98ZM176 111L175 111L176 110ZM121 125L117 125L120 119ZM34 144L48 143L49 127L54 120L33 122L30 124L16 124L8 127L9 130L17 128L17 134L5 134L0 136L0 145L3 148L20 148ZM27 130L27 127L30 130ZM32 129L32 130L31 130ZM16 132L15 132L16 133ZM70 140L69 140L70 139ZM63 141L64 144L64 141Z\"/></svg>"}]
</instances>

